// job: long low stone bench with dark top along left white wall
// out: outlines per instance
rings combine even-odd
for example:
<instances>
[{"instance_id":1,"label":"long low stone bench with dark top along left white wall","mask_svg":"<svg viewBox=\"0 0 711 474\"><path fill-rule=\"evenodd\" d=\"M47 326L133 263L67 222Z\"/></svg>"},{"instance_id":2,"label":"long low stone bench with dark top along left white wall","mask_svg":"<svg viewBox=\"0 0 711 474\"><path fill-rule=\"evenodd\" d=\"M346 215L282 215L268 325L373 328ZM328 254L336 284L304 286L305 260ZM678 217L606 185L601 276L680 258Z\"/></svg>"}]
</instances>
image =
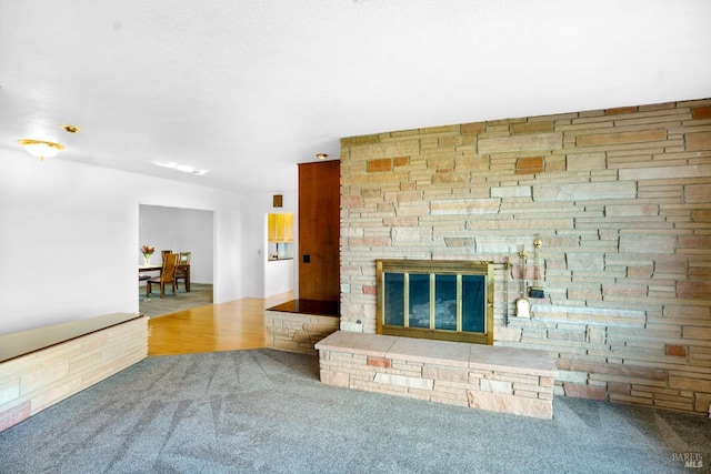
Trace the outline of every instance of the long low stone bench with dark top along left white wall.
<instances>
[{"instance_id":1,"label":"long low stone bench with dark top along left white wall","mask_svg":"<svg viewBox=\"0 0 711 474\"><path fill-rule=\"evenodd\" d=\"M148 320L113 313L0 335L0 432L146 359Z\"/></svg>"}]
</instances>

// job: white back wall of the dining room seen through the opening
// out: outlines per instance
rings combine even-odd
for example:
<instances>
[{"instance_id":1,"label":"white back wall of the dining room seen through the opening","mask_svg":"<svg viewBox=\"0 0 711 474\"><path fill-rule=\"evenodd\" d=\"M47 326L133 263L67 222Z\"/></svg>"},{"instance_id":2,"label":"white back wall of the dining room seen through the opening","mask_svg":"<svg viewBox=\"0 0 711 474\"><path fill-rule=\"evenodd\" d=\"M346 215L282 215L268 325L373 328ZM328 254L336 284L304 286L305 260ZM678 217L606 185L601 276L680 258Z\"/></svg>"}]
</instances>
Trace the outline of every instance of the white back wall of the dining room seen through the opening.
<instances>
[{"instance_id":1,"label":"white back wall of the dining room seen through the opening","mask_svg":"<svg viewBox=\"0 0 711 474\"><path fill-rule=\"evenodd\" d=\"M156 248L151 263L161 263L161 251L190 252L190 281L213 282L214 213L196 209L141 204L138 211L138 241L140 245ZM136 250L137 261L143 264L143 254ZM158 273L154 272L154 275Z\"/></svg>"}]
</instances>

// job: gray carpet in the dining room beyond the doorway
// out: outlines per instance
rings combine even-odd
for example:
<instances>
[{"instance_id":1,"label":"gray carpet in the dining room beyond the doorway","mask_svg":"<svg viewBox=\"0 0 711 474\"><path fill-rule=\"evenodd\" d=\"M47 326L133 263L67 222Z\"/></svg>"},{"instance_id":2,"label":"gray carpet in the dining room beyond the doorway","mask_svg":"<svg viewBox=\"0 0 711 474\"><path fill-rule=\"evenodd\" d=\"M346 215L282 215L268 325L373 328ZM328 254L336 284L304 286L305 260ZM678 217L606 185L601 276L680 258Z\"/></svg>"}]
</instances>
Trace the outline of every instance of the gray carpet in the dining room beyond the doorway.
<instances>
[{"instance_id":1,"label":"gray carpet in the dining room beyond the doorway","mask_svg":"<svg viewBox=\"0 0 711 474\"><path fill-rule=\"evenodd\" d=\"M190 292L187 292L181 281L176 294L172 293L171 288L168 288L166 289L166 295L163 297L160 297L160 288L158 285L154 284L151 290L152 295L150 299L146 297L144 286L139 288L138 295L139 313L149 317L162 316L182 310L212 304L211 284L192 283L190 285Z\"/></svg>"}]
</instances>

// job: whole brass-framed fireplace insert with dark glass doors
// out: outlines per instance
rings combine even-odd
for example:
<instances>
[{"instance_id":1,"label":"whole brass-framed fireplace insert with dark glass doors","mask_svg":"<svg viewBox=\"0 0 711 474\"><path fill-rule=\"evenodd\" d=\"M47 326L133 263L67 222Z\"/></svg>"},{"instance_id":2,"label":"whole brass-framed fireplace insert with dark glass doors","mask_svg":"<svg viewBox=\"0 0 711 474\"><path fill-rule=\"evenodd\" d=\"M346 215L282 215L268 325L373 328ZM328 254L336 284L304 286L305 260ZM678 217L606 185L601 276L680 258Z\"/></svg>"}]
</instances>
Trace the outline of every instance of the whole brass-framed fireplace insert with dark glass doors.
<instances>
[{"instance_id":1,"label":"whole brass-framed fireplace insert with dark glass doors","mask_svg":"<svg viewBox=\"0 0 711 474\"><path fill-rule=\"evenodd\" d=\"M493 263L377 260L379 334L493 343Z\"/></svg>"}]
</instances>

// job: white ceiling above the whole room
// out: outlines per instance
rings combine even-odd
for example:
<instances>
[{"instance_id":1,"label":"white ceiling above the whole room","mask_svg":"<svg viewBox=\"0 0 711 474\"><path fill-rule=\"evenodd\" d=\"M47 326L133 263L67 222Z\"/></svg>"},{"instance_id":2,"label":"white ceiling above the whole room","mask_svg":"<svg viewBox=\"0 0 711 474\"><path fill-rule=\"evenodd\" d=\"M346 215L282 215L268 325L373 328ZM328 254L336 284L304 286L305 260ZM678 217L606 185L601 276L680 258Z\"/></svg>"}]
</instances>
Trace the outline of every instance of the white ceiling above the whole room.
<instances>
[{"instance_id":1,"label":"white ceiling above the whole room","mask_svg":"<svg viewBox=\"0 0 711 474\"><path fill-rule=\"evenodd\" d=\"M0 0L0 153L240 192L341 137L708 97L708 0Z\"/></svg>"}]
</instances>

